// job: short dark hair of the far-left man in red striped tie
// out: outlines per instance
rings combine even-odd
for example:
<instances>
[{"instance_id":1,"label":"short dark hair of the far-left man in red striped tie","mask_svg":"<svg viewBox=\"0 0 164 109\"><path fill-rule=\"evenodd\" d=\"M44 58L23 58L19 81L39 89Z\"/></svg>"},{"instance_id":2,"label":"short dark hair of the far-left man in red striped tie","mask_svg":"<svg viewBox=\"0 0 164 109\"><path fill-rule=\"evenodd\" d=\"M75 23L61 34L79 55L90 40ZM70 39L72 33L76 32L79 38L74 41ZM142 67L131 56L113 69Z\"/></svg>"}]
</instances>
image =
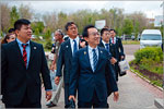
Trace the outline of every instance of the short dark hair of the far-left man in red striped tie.
<instances>
[{"instance_id":1,"label":"short dark hair of the far-left man in red striped tie","mask_svg":"<svg viewBox=\"0 0 164 109\"><path fill-rule=\"evenodd\" d=\"M26 19L20 19L14 23L14 29L21 29L22 25L28 25L31 22Z\"/></svg>"}]
</instances>

